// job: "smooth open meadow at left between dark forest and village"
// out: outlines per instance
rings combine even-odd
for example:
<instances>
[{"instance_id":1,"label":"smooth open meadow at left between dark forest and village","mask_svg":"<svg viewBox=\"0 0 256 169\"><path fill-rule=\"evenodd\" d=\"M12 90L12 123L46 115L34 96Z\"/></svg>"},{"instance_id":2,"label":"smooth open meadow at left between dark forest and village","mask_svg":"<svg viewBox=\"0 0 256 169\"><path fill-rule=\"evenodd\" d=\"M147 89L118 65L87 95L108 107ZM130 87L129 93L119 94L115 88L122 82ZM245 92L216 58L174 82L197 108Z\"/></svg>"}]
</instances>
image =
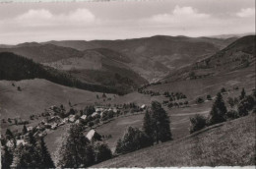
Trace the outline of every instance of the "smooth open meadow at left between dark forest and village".
<instances>
[{"instance_id":1,"label":"smooth open meadow at left between dark forest and village","mask_svg":"<svg viewBox=\"0 0 256 169\"><path fill-rule=\"evenodd\" d=\"M13 86L12 84L15 84ZM20 86L21 91L17 89ZM101 97L102 93L92 92L83 89L68 87L60 84L53 84L46 80L34 79L19 82L0 81L0 113L1 118L22 118L29 120L31 115L41 114L45 108L52 105L63 104L69 110L69 101L75 108L85 108L88 104L103 102L101 98L96 99L96 94ZM113 94L106 94L112 97ZM39 119L32 121L31 126L39 122ZM2 124L4 132L6 128L11 130L22 129L23 126L9 126Z\"/></svg>"}]
</instances>

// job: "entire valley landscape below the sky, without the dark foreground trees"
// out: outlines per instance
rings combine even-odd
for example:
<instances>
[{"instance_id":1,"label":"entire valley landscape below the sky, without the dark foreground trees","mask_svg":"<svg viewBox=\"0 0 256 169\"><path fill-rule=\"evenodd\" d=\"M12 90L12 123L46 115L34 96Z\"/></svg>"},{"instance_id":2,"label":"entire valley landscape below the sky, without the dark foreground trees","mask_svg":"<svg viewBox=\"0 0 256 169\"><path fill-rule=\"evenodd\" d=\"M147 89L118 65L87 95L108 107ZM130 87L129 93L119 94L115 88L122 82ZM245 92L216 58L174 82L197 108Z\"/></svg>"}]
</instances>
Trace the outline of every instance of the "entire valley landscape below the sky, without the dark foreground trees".
<instances>
[{"instance_id":1,"label":"entire valley landscape below the sky, without the dark foreground trees","mask_svg":"<svg viewBox=\"0 0 256 169\"><path fill-rule=\"evenodd\" d=\"M10 130L23 140L27 126L42 136L55 163L74 124L83 128L83 136L99 134L114 155L93 167L255 163L249 150L255 143L239 146L255 142L255 35L47 41L0 51L1 138ZM229 112L238 111L243 100L234 107L229 101L243 91L254 99L248 115L191 134L191 119L208 119L219 92ZM154 101L169 119L171 140L116 153L129 127L144 130Z\"/></svg>"}]
</instances>

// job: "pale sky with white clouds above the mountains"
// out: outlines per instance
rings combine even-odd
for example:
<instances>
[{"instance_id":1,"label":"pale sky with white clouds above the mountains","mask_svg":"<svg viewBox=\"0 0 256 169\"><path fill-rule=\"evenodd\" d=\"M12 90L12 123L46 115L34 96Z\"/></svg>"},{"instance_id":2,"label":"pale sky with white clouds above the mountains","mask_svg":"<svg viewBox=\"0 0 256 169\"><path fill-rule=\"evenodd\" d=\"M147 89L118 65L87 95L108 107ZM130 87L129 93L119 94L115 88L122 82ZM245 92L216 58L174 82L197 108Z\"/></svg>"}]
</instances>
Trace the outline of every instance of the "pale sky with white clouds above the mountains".
<instances>
[{"instance_id":1,"label":"pale sky with white clouds above the mountains","mask_svg":"<svg viewBox=\"0 0 256 169\"><path fill-rule=\"evenodd\" d=\"M64 1L0 3L0 44L255 32L255 0Z\"/></svg>"}]
</instances>

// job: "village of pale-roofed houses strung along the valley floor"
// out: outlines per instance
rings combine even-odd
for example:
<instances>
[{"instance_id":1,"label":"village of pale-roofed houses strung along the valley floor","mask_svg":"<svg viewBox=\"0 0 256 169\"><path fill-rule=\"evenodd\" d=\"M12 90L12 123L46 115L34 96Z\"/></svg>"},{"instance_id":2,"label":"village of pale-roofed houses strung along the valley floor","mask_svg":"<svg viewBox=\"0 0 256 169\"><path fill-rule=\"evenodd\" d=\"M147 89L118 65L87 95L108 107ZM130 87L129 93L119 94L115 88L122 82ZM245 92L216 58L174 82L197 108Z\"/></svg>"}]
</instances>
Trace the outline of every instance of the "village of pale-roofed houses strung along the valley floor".
<instances>
[{"instance_id":1,"label":"village of pale-roofed houses strung along the valley floor","mask_svg":"<svg viewBox=\"0 0 256 169\"><path fill-rule=\"evenodd\" d=\"M84 110L76 110L71 106L69 111L66 111L63 105L59 107L52 105L41 113L42 120L35 126L28 125L29 123L20 122L24 124L22 132L10 132L13 137L8 137L6 133L6 145L10 148L18 146L19 144L27 144L28 139L32 136L34 139L45 137L47 134L54 132L59 127L71 124L82 125L84 135L89 141L103 141L111 138L111 136L101 136L96 132L96 128L109 123L115 118L122 116L129 116L135 113L144 113L147 106L145 104L138 106L135 103L110 106L87 106ZM36 119L35 115L31 116L31 120ZM28 122L28 121L26 121ZM27 125L26 125L27 124ZM9 139L10 138L10 139ZM11 139L15 138L15 139Z\"/></svg>"}]
</instances>

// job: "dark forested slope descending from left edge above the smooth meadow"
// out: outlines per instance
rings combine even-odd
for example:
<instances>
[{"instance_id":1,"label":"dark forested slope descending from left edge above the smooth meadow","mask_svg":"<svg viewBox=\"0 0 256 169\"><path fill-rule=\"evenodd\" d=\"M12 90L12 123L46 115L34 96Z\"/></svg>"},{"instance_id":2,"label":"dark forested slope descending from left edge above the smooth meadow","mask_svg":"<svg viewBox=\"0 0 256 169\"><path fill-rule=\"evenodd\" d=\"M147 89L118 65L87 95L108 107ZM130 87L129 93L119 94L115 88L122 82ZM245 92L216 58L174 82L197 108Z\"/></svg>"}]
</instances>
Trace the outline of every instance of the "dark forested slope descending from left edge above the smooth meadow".
<instances>
[{"instance_id":1,"label":"dark forested slope descending from left edge above the smooth meadow","mask_svg":"<svg viewBox=\"0 0 256 169\"><path fill-rule=\"evenodd\" d=\"M34 63L32 59L24 58L9 52L0 53L0 77L0 80L7 81L20 81L39 78L45 79L52 83L91 91L124 94L122 90L116 90L115 88L110 88L99 84L83 83L66 72L61 72L54 68Z\"/></svg>"}]
</instances>

